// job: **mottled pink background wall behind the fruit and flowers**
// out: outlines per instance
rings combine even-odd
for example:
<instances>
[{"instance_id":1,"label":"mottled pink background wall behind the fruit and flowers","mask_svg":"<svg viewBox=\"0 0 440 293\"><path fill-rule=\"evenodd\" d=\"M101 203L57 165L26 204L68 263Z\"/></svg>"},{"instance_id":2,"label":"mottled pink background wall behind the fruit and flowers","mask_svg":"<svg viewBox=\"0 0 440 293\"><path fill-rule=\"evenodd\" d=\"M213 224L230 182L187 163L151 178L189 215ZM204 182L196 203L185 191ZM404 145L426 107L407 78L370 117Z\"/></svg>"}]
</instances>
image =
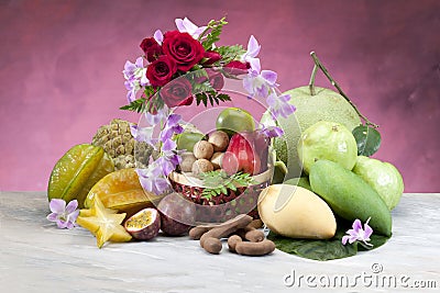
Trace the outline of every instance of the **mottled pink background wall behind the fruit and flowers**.
<instances>
[{"instance_id":1,"label":"mottled pink background wall behind the fruit and flowers","mask_svg":"<svg viewBox=\"0 0 440 293\"><path fill-rule=\"evenodd\" d=\"M308 82L310 50L381 125L376 158L406 192L439 192L440 1L0 2L0 190L45 190L52 167L90 142L125 103L121 70L139 44L174 19L227 15L221 44L262 44L280 89ZM330 87L321 76L318 84Z\"/></svg>"}]
</instances>

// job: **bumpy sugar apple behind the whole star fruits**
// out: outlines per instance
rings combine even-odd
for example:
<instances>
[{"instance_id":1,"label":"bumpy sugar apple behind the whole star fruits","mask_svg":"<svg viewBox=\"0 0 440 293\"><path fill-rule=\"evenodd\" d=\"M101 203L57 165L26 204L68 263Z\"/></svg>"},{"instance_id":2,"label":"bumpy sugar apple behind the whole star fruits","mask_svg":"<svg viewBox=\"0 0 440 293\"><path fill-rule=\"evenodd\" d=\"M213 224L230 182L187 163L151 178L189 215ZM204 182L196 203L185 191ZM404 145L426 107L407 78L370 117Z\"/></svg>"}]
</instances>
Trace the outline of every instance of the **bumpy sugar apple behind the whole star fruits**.
<instances>
[{"instance_id":1,"label":"bumpy sugar apple behind the whole star fruits","mask_svg":"<svg viewBox=\"0 0 440 293\"><path fill-rule=\"evenodd\" d=\"M133 123L114 119L110 124L99 127L91 140L92 145L101 146L113 159L116 170L136 167L134 156L135 144L136 159L139 160L141 158L140 161L143 162L142 167L147 164L147 158L150 158L152 154L152 148L147 144L136 143L134 140L130 132L131 125L133 125Z\"/></svg>"}]
</instances>

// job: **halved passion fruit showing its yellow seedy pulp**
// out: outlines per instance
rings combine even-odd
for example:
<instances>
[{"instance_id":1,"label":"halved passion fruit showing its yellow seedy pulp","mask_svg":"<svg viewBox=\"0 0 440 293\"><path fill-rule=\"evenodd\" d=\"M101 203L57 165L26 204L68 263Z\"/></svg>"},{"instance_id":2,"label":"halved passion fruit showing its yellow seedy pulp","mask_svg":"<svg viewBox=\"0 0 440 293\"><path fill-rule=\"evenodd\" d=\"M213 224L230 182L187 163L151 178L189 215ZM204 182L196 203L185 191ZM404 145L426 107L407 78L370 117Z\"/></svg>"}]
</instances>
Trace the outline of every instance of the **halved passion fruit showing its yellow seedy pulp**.
<instances>
[{"instance_id":1,"label":"halved passion fruit showing its yellow seedy pulp","mask_svg":"<svg viewBox=\"0 0 440 293\"><path fill-rule=\"evenodd\" d=\"M144 209L127 219L124 228L138 240L153 239L161 229L161 215L156 209Z\"/></svg>"}]
</instances>

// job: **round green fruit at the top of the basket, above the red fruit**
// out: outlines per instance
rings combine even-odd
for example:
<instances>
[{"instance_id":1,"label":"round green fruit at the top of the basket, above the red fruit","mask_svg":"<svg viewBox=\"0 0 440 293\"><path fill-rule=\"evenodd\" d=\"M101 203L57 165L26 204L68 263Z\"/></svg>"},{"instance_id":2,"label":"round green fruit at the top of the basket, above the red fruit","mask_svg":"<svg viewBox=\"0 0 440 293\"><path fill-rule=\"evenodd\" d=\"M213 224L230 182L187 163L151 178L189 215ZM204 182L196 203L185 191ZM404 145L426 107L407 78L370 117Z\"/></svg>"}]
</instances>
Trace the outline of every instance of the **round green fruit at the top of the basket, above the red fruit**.
<instances>
[{"instance_id":1,"label":"round green fruit at the top of the basket, above the red fruit","mask_svg":"<svg viewBox=\"0 0 440 293\"><path fill-rule=\"evenodd\" d=\"M255 122L248 111L240 108L228 108L220 112L216 127L231 136L240 132L253 132Z\"/></svg>"}]
</instances>

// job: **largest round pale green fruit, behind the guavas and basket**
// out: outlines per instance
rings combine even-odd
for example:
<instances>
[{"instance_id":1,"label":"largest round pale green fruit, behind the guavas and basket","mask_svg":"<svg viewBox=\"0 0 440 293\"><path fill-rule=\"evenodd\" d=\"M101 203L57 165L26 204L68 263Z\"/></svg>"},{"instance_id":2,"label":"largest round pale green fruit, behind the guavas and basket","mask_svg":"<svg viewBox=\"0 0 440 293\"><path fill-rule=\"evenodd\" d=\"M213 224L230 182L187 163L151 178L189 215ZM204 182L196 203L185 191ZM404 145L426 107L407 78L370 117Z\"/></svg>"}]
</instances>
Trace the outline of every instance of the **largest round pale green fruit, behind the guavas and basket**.
<instances>
[{"instance_id":1,"label":"largest round pale green fruit, behind the guavas and basket","mask_svg":"<svg viewBox=\"0 0 440 293\"><path fill-rule=\"evenodd\" d=\"M279 117L278 126L285 135L275 138L274 148L277 160L286 164L288 173L286 179L300 177L301 162L298 158L297 145L301 133L318 121L332 121L344 125L350 132L361 124L354 108L339 93L315 87L316 94L311 95L308 86L296 88L285 93L290 94L290 104L296 106L294 115L287 119ZM265 113L262 123L271 121L270 113Z\"/></svg>"}]
</instances>

